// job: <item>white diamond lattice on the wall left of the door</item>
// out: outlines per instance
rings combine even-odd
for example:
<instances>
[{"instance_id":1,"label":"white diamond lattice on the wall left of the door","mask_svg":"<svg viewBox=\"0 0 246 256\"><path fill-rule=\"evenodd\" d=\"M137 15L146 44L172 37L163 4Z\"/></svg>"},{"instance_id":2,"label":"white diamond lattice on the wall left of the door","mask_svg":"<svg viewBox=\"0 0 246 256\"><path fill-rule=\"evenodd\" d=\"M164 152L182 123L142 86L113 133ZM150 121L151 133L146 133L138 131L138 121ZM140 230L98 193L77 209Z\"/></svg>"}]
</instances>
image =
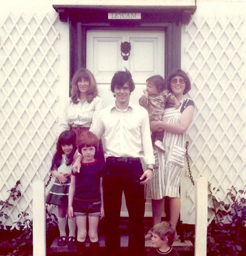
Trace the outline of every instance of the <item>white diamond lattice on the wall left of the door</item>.
<instances>
[{"instance_id":1,"label":"white diamond lattice on the wall left of the door","mask_svg":"<svg viewBox=\"0 0 246 256\"><path fill-rule=\"evenodd\" d=\"M9 14L1 24L1 198L17 180L22 183L22 197L9 209L6 225L17 221L20 211L32 216L32 181L45 180L50 168L57 118L55 20Z\"/></svg>"}]
</instances>

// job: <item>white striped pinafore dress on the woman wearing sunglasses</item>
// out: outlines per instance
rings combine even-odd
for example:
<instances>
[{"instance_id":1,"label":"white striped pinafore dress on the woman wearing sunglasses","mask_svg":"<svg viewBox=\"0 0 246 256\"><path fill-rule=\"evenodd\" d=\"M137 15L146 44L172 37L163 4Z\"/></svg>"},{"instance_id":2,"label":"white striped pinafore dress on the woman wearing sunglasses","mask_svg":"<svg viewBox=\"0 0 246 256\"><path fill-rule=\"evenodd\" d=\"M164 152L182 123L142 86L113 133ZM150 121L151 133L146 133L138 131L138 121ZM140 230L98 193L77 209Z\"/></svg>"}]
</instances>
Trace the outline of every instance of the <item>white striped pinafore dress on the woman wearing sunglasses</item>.
<instances>
[{"instance_id":1,"label":"white striped pinafore dress on the woman wearing sunglasses","mask_svg":"<svg viewBox=\"0 0 246 256\"><path fill-rule=\"evenodd\" d=\"M164 122L178 124L183 109L187 106L194 106L192 99L183 99L180 107L167 107L164 110ZM183 167L185 166L185 137L186 134L173 134L164 130L163 145L166 150L162 153L154 149L156 164L149 193L152 199L162 199L164 196L171 198L180 197L180 179Z\"/></svg>"}]
</instances>

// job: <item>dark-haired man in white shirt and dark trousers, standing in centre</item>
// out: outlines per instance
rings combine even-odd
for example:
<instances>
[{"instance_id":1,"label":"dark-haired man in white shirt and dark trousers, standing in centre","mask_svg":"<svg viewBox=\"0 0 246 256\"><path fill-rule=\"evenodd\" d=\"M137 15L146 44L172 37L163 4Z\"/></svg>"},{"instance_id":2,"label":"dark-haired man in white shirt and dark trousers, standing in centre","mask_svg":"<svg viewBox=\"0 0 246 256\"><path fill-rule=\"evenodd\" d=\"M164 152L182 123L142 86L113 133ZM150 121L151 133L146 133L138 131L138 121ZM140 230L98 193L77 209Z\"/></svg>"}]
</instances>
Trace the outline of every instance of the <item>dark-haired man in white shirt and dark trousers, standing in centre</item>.
<instances>
[{"instance_id":1,"label":"dark-haired man in white shirt and dark trousers, standing in centre","mask_svg":"<svg viewBox=\"0 0 246 256\"><path fill-rule=\"evenodd\" d=\"M100 111L90 131L105 137L103 205L107 256L120 255L120 210L124 191L129 213L129 255L143 256L144 185L150 183L154 155L146 109L130 103L134 90L131 73L118 71L112 78L115 104ZM146 163L143 170L141 159Z\"/></svg>"}]
</instances>

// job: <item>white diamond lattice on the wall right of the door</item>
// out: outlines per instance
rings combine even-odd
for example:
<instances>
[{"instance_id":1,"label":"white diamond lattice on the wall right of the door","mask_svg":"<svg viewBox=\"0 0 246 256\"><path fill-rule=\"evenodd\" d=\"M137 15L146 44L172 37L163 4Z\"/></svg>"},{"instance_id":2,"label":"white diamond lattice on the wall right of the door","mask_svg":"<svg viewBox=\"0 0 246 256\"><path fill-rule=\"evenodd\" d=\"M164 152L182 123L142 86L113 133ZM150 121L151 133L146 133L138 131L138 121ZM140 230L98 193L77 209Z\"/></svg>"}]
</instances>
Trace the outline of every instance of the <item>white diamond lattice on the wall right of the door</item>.
<instances>
[{"instance_id":1,"label":"white diamond lattice on the wall right of the door","mask_svg":"<svg viewBox=\"0 0 246 256\"><path fill-rule=\"evenodd\" d=\"M232 185L246 189L244 30L240 17L193 17L185 28L186 70L196 104L189 132L191 171L194 178L205 176L217 198L227 203ZM190 212L193 193L193 188L187 192ZM209 213L210 221L213 217Z\"/></svg>"}]
</instances>

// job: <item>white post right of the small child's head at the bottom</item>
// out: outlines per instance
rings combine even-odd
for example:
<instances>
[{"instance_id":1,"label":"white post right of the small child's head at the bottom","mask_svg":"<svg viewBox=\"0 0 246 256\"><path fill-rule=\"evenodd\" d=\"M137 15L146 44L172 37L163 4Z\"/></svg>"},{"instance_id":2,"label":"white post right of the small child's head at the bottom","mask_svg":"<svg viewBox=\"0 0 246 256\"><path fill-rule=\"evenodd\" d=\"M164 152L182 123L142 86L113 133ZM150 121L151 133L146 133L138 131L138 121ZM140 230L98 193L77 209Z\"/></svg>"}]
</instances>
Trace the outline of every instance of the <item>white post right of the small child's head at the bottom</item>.
<instances>
[{"instance_id":1,"label":"white post right of the small child's head at the bottom","mask_svg":"<svg viewBox=\"0 0 246 256\"><path fill-rule=\"evenodd\" d=\"M207 255L208 181L199 178L195 184L195 256Z\"/></svg>"}]
</instances>

